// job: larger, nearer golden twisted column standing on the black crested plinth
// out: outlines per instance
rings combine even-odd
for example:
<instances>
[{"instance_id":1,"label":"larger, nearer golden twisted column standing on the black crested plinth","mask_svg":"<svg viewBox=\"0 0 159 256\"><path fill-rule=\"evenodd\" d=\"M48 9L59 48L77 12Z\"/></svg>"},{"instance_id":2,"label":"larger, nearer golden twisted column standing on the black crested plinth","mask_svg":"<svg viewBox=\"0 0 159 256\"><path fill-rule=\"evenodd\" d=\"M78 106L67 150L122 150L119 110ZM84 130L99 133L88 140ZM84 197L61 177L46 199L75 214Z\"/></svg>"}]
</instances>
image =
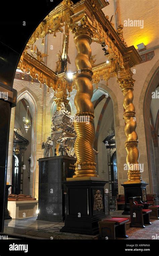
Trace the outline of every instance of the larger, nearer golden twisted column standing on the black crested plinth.
<instances>
[{"instance_id":1,"label":"larger, nearer golden twisted column standing on the black crested plinth","mask_svg":"<svg viewBox=\"0 0 159 256\"><path fill-rule=\"evenodd\" d=\"M96 172L95 153L93 142L95 131L93 127L94 106L91 102L93 95L92 65L91 58L91 30L86 26L76 25L72 30L74 42L77 49L75 65L77 73L74 76L74 83L77 93L74 104L77 114L74 121L74 128L77 138L74 145L77 162L75 164L75 177L98 177Z\"/></svg>"}]
</instances>

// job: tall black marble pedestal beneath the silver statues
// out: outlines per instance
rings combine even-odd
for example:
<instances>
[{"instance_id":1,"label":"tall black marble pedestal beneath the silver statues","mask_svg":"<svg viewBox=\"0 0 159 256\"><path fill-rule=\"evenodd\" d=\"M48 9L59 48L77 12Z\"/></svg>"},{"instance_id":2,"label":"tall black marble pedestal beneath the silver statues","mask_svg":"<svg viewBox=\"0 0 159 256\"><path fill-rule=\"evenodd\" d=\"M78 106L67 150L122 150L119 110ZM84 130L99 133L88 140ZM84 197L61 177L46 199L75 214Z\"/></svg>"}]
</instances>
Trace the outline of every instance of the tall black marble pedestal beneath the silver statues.
<instances>
[{"instance_id":1,"label":"tall black marble pedestal beneath the silver statues","mask_svg":"<svg viewBox=\"0 0 159 256\"><path fill-rule=\"evenodd\" d=\"M64 221L66 178L74 175L75 158L55 156L39 161L39 214L38 220Z\"/></svg>"}]
</instances>

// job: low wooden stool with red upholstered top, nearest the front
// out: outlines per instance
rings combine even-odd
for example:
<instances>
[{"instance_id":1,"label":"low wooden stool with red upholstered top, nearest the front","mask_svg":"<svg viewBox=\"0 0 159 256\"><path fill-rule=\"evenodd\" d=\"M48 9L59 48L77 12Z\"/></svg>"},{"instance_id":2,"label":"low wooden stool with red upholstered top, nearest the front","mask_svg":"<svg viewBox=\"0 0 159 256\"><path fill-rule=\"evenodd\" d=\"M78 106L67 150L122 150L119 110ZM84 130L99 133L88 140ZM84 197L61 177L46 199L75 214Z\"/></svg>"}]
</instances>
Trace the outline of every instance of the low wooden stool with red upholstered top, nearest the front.
<instances>
[{"instance_id":1,"label":"low wooden stool with red upholstered top, nearest the front","mask_svg":"<svg viewBox=\"0 0 159 256\"><path fill-rule=\"evenodd\" d=\"M126 226L125 224L129 221L127 218L112 217L99 221L99 237L100 239L115 239L115 237L125 237Z\"/></svg>"}]
</instances>

